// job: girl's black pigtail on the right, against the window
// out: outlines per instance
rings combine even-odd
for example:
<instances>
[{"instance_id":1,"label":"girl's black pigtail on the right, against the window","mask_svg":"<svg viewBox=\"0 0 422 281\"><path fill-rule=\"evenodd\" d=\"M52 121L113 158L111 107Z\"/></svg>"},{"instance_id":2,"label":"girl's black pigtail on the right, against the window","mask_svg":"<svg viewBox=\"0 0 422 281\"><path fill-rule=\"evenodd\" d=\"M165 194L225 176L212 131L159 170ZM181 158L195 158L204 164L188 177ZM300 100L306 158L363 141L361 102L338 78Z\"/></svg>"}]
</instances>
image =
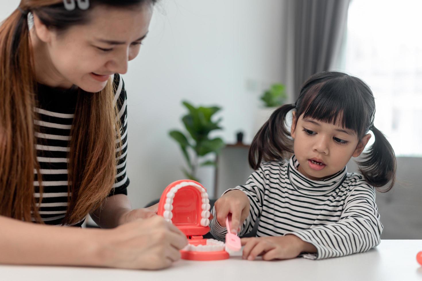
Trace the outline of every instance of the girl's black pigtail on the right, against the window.
<instances>
[{"instance_id":1,"label":"girl's black pigtail on the right, against the window","mask_svg":"<svg viewBox=\"0 0 422 281\"><path fill-rule=\"evenodd\" d=\"M384 134L375 126L371 131L375 136L375 142L369 147L368 153L363 153L362 161L357 163L360 166L360 173L365 180L374 187L382 187L390 182L390 185L383 190L377 188L380 192L389 191L395 182L396 176L396 158L390 142Z\"/></svg>"}]
</instances>

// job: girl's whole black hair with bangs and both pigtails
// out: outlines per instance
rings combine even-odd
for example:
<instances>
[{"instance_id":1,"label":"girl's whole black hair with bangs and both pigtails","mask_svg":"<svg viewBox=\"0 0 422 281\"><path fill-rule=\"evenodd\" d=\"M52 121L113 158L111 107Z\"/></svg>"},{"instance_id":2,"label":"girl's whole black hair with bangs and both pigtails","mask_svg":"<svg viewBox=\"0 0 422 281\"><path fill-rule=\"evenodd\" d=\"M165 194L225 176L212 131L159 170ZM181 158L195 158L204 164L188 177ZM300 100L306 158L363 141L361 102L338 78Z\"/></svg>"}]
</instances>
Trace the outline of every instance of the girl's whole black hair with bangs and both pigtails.
<instances>
[{"instance_id":1,"label":"girl's whole black hair with bangs and both pigtails","mask_svg":"<svg viewBox=\"0 0 422 281\"><path fill-rule=\"evenodd\" d=\"M249 149L249 165L258 169L262 161L279 161L293 153L293 140L286 126L286 115L296 110L299 118L309 117L325 123L340 124L356 132L358 139L369 130L375 142L357 161L360 173L374 187L388 185L378 191L387 192L395 182L396 158L390 143L373 124L371 116L375 100L369 86L359 78L343 72L320 72L312 75L300 90L294 104L284 104L255 135ZM298 118L296 118L296 123Z\"/></svg>"}]
</instances>

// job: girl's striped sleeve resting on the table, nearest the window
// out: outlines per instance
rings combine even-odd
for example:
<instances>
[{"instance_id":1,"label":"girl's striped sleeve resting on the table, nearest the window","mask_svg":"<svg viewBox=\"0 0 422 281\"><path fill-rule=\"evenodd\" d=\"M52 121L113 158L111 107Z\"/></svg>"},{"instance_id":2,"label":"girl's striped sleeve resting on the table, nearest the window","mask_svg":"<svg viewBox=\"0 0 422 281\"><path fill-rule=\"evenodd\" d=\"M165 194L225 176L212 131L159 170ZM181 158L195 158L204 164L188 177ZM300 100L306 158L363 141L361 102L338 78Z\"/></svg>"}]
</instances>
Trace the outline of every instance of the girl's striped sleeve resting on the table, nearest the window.
<instances>
[{"instance_id":1,"label":"girl's striped sleeve resting on the table, nearest the window","mask_svg":"<svg viewBox=\"0 0 422 281\"><path fill-rule=\"evenodd\" d=\"M346 199L338 222L285 235L298 236L317 248L316 254L305 254L304 257L324 259L368 251L379 244L382 229L375 203L375 189L360 181Z\"/></svg>"}]
</instances>

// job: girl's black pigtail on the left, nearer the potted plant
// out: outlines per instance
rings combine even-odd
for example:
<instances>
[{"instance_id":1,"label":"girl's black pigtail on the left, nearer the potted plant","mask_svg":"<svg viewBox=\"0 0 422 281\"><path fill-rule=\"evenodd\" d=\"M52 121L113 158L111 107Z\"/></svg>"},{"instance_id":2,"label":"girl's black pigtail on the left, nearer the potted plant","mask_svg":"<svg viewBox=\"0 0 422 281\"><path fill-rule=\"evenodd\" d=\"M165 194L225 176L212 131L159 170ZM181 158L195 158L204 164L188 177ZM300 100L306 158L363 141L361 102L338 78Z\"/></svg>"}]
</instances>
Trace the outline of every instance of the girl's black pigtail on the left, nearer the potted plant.
<instances>
[{"instance_id":1,"label":"girl's black pigtail on the left, nearer the potted plant","mask_svg":"<svg viewBox=\"0 0 422 281\"><path fill-rule=\"evenodd\" d=\"M286 128L286 115L295 104L284 104L277 108L254 136L249 148L249 165L256 170L262 160L277 161L293 153L293 141Z\"/></svg>"}]
</instances>

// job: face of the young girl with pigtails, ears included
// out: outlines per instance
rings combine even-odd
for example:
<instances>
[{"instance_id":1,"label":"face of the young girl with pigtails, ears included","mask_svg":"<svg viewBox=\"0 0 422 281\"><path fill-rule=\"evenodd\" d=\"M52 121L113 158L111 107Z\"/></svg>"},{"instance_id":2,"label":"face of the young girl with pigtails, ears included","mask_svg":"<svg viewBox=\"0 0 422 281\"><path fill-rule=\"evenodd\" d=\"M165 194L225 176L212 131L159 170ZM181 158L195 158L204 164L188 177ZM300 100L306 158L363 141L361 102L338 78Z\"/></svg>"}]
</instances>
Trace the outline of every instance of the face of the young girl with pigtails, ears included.
<instances>
[{"instance_id":1,"label":"face of the young girl with pigtails, ears included","mask_svg":"<svg viewBox=\"0 0 422 281\"><path fill-rule=\"evenodd\" d=\"M309 179L320 180L341 171L352 156L362 153L371 138L371 134L366 134L359 142L356 132L312 118L303 119L303 114L296 123L295 113L291 128L295 156L298 170Z\"/></svg>"}]
</instances>

